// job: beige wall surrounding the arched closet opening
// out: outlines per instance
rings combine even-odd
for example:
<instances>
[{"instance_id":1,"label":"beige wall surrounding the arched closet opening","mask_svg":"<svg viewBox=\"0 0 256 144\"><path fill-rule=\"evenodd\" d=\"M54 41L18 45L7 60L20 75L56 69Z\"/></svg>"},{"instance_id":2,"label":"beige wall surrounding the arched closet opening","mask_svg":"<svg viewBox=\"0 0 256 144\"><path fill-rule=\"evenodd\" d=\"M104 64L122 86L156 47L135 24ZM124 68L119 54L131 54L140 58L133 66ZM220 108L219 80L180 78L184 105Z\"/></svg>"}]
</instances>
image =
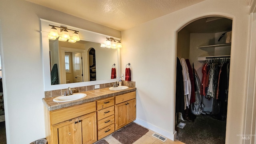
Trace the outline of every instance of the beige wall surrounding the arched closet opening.
<instances>
[{"instance_id":1,"label":"beige wall surrounding the arched closet opening","mask_svg":"<svg viewBox=\"0 0 256 144\"><path fill-rule=\"evenodd\" d=\"M248 6L241 0L206 0L122 31L121 66L130 62L137 87L136 122L173 138L177 32L208 16L233 20L226 143L241 143L246 90Z\"/></svg>"}]
</instances>

